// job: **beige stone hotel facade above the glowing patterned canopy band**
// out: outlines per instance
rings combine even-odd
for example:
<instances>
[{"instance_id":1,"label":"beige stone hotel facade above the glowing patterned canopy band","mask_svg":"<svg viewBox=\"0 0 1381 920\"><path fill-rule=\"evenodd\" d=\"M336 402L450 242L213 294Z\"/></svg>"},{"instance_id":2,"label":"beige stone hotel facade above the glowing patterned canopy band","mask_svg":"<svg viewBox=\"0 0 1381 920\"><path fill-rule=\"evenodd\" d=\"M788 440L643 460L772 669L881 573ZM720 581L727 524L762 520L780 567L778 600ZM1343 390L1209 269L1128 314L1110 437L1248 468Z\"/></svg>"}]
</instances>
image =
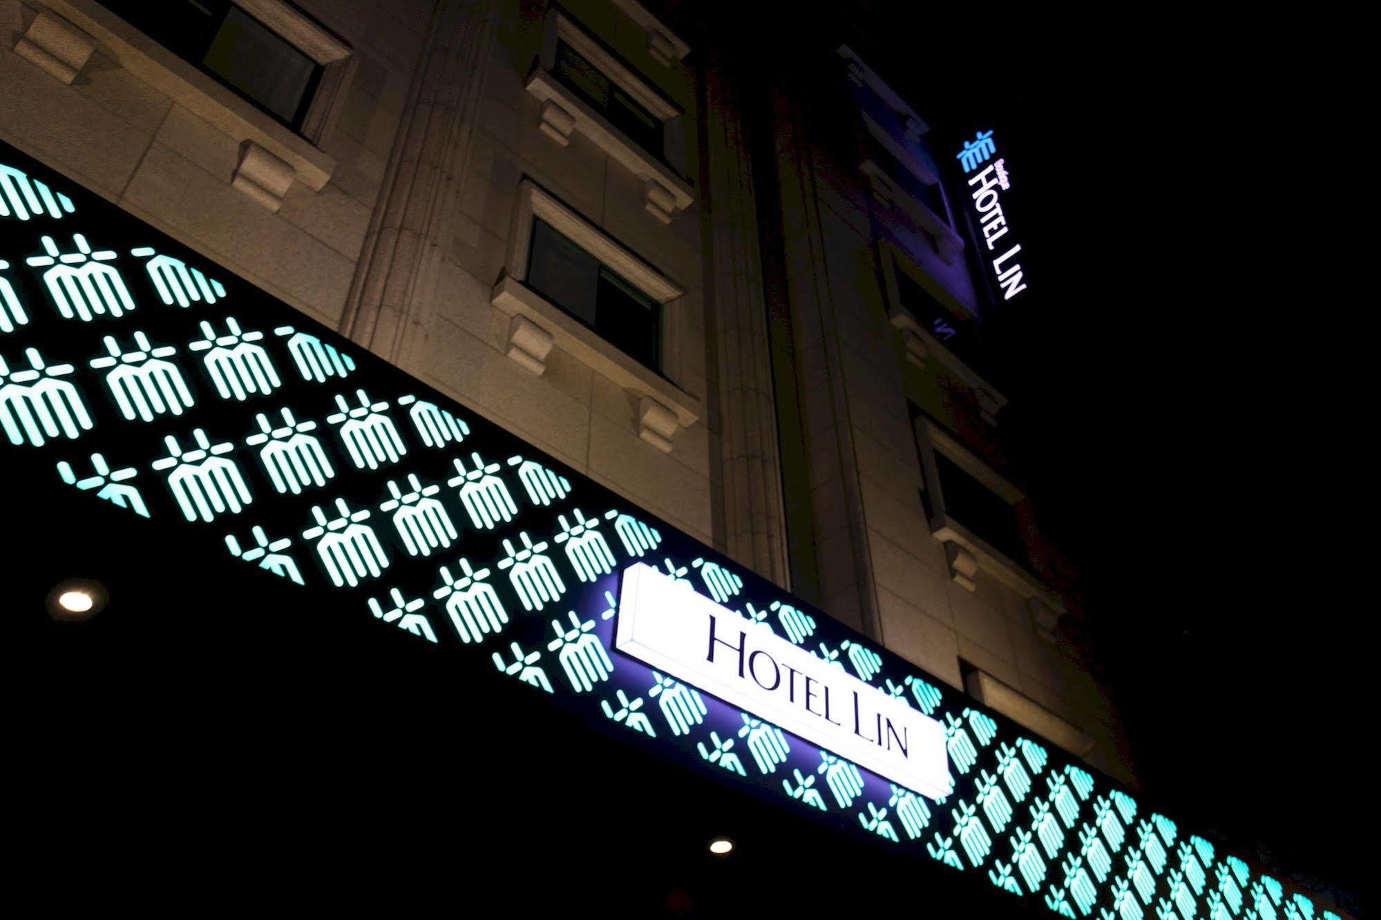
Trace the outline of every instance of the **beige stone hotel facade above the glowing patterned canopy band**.
<instances>
[{"instance_id":1,"label":"beige stone hotel facade above the glowing patterned canopy band","mask_svg":"<svg viewBox=\"0 0 1381 920\"><path fill-rule=\"evenodd\" d=\"M986 463L1004 398L936 358L894 303L898 253L956 303L981 297L957 235L898 220L906 192L840 142L862 105L905 144L906 104L845 58L739 84L631 0L298 6L325 33L296 41L327 68L301 134L94 0L0 0L0 138L1132 779L1116 713L1059 640L1059 586L975 557L923 500L935 438ZM664 122L660 156L550 79L558 39ZM755 94L768 123L753 123ZM769 131L769 162L753 131ZM660 373L528 287L534 215L663 304ZM783 228L771 260L764 218ZM789 318L789 390L768 309ZM786 402L800 467L783 456ZM809 521L795 539L791 503ZM793 586L789 546L811 547L815 584Z\"/></svg>"}]
</instances>

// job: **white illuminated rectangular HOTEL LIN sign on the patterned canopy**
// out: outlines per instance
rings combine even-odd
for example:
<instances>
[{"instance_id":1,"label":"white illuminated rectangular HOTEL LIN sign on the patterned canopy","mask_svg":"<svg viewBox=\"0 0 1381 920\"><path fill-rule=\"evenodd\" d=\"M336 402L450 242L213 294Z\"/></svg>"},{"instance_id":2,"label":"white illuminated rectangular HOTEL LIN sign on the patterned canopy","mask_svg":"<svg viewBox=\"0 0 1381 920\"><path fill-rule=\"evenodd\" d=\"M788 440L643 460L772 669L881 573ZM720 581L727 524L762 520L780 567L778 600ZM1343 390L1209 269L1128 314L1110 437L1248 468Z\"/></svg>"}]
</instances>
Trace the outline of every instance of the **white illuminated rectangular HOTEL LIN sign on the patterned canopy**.
<instances>
[{"instance_id":1,"label":"white illuminated rectangular HOTEL LIN sign on the patterned canopy","mask_svg":"<svg viewBox=\"0 0 1381 920\"><path fill-rule=\"evenodd\" d=\"M623 572L615 646L899 786L953 789L940 722L642 562Z\"/></svg>"}]
</instances>

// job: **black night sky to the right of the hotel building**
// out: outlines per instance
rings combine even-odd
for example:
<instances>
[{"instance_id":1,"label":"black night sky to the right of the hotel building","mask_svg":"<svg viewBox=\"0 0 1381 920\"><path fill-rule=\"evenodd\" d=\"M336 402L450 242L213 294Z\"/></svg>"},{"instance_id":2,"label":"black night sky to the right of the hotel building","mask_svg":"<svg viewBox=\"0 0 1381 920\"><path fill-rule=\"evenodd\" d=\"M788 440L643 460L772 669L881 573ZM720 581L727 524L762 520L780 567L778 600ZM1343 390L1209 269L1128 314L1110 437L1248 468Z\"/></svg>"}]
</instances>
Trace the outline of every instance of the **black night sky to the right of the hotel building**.
<instances>
[{"instance_id":1,"label":"black night sky to the right of the hotel building","mask_svg":"<svg viewBox=\"0 0 1381 920\"><path fill-rule=\"evenodd\" d=\"M769 66L802 66L798 37L870 41L935 134L982 120L1007 142L1030 294L1008 308L1025 347L1004 425L1083 573L1145 794L1366 916L1371 848L1323 803L1370 720L1353 700L1375 605L1348 546L1370 413L1334 307L1353 298L1330 283L1349 264L1312 213L1326 170L1301 170L1301 141L1329 135L1301 124L1304 70L1203 12L1090 32L869 0L840 15L887 25L849 39L721 8Z\"/></svg>"}]
</instances>

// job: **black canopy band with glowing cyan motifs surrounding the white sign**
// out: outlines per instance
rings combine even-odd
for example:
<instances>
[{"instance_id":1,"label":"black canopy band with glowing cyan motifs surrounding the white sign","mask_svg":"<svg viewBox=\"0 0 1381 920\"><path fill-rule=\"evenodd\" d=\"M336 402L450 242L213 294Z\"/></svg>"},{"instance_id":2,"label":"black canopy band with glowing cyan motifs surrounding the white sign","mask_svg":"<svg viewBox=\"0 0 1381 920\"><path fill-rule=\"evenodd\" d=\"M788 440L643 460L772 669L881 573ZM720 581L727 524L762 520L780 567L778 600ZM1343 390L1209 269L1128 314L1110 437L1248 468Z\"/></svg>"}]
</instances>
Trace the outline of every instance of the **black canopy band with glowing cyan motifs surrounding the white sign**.
<instances>
[{"instance_id":1,"label":"black canopy band with glowing cyan motifs surrounding the white sign","mask_svg":"<svg viewBox=\"0 0 1381 920\"><path fill-rule=\"evenodd\" d=\"M1098 920L1334 916L3 144L0 431L14 468L43 471L35 492L106 501L137 539L243 566L283 606L446 645L456 667L958 885ZM620 653L632 564L934 720L953 790L909 789Z\"/></svg>"}]
</instances>

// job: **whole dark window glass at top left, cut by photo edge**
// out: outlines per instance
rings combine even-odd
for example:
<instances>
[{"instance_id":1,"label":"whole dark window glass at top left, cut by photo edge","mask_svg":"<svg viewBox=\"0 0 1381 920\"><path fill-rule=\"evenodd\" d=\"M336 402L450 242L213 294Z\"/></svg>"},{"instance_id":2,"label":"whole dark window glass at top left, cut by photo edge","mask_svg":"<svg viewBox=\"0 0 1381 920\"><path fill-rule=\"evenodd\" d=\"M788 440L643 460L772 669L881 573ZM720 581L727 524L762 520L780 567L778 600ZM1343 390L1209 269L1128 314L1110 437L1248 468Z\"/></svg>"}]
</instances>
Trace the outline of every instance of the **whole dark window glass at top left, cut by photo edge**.
<instances>
[{"instance_id":1,"label":"whole dark window glass at top left, cut by photo edge","mask_svg":"<svg viewBox=\"0 0 1381 920\"><path fill-rule=\"evenodd\" d=\"M298 130L323 66L226 0L101 0L102 6L254 106Z\"/></svg>"}]
</instances>

